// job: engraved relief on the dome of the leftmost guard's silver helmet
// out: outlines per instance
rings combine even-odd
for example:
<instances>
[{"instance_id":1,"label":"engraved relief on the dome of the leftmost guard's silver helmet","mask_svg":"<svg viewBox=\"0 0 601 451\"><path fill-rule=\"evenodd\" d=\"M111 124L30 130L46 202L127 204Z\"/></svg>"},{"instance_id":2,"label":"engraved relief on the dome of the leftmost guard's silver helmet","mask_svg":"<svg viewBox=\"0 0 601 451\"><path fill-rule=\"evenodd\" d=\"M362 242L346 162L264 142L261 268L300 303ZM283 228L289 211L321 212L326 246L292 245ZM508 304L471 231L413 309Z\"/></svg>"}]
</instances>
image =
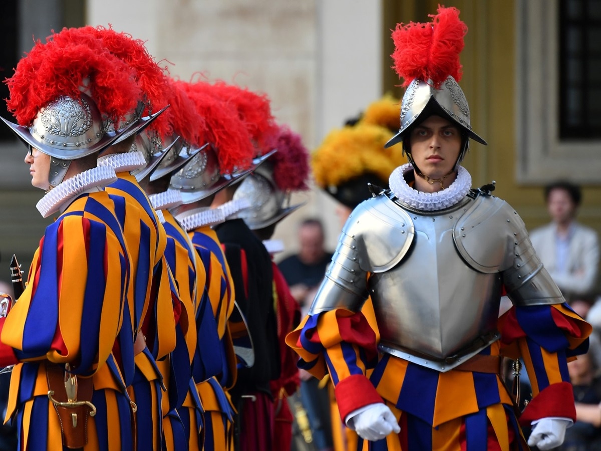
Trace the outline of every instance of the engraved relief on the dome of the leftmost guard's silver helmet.
<instances>
[{"instance_id":1,"label":"engraved relief on the dome of the leftmost guard's silver helmet","mask_svg":"<svg viewBox=\"0 0 601 451\"><path fill-rule=\"evenodd\" d=\"M40 111L44 134L58 137L79 137L92 126L90 105L84 99L60 96ZM34 129L37 133L37 130ZM39 134L39 133L38 133ZM41 138L44 134L40 135Z\"/></svg>"}]
</instances>

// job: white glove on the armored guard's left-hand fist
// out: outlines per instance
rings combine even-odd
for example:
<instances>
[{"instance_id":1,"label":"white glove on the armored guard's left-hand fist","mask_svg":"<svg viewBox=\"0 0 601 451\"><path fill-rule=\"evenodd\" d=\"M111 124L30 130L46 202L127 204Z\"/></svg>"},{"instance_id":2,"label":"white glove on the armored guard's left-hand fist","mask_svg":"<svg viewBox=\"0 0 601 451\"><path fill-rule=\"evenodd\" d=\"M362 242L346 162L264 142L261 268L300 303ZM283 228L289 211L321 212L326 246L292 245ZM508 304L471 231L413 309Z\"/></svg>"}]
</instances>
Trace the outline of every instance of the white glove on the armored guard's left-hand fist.
<instances>
[{"instance_id":1,"label":"white glove on the armored guard's left-hand fist","mask_svg":"<svg viewBox=\"0 0 601 451\"><path fill-rule=\"evenodd\" d=\"M351 413L347 417L346 423L349 428L355 429L359 437L370 441L382 440L392 431L396 434L401 432L394 414L381 402Z\"/></svg>"}]
</instances>

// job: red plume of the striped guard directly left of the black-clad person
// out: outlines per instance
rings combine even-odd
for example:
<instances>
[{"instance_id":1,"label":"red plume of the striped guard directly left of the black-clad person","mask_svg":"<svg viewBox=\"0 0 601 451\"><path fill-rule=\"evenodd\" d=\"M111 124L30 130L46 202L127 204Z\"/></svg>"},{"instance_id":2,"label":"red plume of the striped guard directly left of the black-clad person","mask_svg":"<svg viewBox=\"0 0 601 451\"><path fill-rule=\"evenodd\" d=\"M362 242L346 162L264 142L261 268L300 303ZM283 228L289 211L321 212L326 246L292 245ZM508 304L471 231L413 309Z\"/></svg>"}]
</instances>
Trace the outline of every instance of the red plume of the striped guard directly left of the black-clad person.
<instances>
[{"instance_id":1,"label":"red plume of the striped guard directly left of the black-clad person","mask_svg":"<svg viewBox=\"0 0 601 451\"><path fill-rule=\"evenodd\" d=\"M219 159L221 173L251 167L254 147L246 124L240 120L237 109L222 97L215 95L215 87L207 82L176 82L188 93L206 127L199 136L198 146L207 141L213 145Z\"/></svg>"}]
</instances>

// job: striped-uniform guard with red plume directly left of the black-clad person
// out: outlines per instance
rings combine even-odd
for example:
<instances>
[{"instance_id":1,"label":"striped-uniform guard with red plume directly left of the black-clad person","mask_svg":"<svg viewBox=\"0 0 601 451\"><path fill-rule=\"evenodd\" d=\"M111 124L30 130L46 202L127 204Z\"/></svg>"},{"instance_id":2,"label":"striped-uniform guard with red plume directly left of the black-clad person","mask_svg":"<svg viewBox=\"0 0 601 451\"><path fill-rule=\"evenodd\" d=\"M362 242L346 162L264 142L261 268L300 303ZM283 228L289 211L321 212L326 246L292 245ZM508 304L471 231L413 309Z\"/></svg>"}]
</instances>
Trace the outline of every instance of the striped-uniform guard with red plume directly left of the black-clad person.
<instances>
[{"instance_id":1,"label":"striped-uniform guard with red plume directly left of the black-clad person","mask_svg":"<svg viewBox=\"0 0 601 451\"><path fill-rule=\"evenodd\" d=\"M248 174L232 175L235 168L250 167L253 149L237 112L211 94L212 85L175 84L186 91L206 123L192 144L210 143L171 177L171 188L178 189L182 198L182 205L174 209L175 219L188 232L207 274L201 306L209 310L197 312L199 346L192 377L204 408L204 449L233 450L234 409L228 390L236 381L237 359L228 321L236 295L221 242L211 228L224 216L210 205L216 192Z\"/></svg>"}]
</instances>

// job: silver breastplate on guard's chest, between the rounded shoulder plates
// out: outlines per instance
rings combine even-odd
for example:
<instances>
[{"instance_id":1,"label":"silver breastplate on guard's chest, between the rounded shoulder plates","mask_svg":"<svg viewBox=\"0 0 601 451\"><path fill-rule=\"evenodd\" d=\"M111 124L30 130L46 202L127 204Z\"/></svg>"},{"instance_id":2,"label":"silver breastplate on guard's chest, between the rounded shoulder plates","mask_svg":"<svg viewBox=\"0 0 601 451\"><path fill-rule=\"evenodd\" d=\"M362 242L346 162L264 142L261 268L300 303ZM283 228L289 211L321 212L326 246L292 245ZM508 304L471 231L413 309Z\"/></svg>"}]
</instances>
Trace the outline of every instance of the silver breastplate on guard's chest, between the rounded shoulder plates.
<instances>
[{"instance_id":1,"label":"silver breastplate on guard's chest, between the rounded shoulder plates","mask_svg":"<svg viewBox=\"0 0 601 451\"><path fill-rule=\"evenodd\" d=\"M422 355L439 370L453 366L450 357L475 354L496 339L501 275L475 271L460 257L453 229L461 213L463 207L410 213L412 248L394 268L368 280L380 348ZM481 337L490 338L483 342Z\"/></svg>"}]
</instances>

